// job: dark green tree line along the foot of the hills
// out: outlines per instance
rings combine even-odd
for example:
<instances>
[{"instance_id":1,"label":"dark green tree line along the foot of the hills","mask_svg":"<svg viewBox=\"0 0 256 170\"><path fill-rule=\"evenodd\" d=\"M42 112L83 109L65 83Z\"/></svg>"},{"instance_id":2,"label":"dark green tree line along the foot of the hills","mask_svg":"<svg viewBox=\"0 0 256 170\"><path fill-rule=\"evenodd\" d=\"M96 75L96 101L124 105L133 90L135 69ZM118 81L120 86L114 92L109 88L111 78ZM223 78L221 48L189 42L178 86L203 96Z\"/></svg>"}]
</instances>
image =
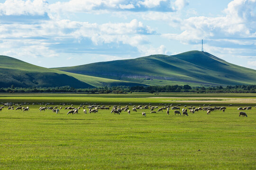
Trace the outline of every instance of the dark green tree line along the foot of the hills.
<instances>
[{"instance_id":1,"label":"dark green tree line along the foot of the hills","mask_svg":"<svg viewBox=\"0 0 256 170\"><path fill-rule=\"evenodd\" d=\"M76 89L63 87L14 87L0 88L0 93L256 93L256 85L199 86L165 85L165 86L112 86Z\"/></svg>"}]
</instances>

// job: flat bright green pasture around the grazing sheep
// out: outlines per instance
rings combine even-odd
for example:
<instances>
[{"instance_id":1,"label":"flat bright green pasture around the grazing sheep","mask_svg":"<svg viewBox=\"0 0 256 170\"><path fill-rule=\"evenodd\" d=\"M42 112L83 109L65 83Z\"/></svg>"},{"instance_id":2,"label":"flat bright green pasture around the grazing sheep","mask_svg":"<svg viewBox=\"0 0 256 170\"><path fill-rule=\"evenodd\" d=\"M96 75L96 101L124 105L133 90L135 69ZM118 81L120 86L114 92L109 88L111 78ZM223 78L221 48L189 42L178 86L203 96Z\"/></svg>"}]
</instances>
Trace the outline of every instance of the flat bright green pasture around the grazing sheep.
<instances>
[{"instance_id":1,"label":"flat bright green pasture around the grazing sheep","mask_svg":"<svg viewBox=\"0 0 256 170\"><path fill-rule=\"evenodd\" d=\"M0 169L256 169L256 94L2 93L0 102L30 102L24 105L29 106L27 112L7 110L7 106L0 112ZM40 112L42 105L37 102L54 102L48 106L58 107L60 102L73 103L76 108L89 103L111 107L98 113L88 113L86 108L87 114L81 108L79 114L67 115L64 109L61 114ZM113 105L128 103L132 103L130 115L110 113ZM210 115L188 111L189 116L174 115L174 110L170 115L166 110L132 111L133 105L149 103L158 107L180 103L181 109L212 104L227 109ZM238 117L237 108L246 106L252 107L245 110L248 117Z\"/></svg>"}]
</instances>

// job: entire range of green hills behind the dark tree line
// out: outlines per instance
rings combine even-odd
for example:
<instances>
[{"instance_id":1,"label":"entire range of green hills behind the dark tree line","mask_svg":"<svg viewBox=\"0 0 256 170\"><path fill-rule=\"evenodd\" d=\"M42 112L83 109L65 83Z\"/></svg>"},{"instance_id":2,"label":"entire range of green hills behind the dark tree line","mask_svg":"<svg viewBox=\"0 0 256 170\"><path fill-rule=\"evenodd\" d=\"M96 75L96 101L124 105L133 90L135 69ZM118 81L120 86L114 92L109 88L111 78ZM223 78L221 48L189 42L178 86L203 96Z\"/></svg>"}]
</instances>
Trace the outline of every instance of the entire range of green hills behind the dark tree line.
<instances>
[{"instance_id":1,"label":"entire range of green hills behind the dark tree line","mask_svg":"<svg viewBox=\"0 0 256 170\"><path fill-rule=\"evenodd\" d=\"M43 68L0 56L0 87L242 84L256 84L256 70L228 63L201 51L188 51L173 56L150 55L64 68Z\"/></svg>"}]
</instances>

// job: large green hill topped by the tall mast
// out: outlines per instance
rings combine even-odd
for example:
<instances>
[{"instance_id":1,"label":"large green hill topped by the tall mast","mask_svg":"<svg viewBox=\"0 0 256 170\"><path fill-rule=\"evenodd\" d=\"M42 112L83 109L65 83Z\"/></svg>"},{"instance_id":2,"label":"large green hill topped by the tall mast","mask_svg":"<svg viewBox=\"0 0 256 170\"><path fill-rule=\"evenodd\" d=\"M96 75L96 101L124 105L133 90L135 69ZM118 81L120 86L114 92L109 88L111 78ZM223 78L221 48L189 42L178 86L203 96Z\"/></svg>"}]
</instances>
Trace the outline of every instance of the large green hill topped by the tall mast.
<instances>
[{"instance_id":1,"label":"large green hill topped by the tall mast","mask_svg":"<svg viewBox=\"0 0 256 170\"><path fill-rule=\"evenodd\" d=\"M201 51L188 51L174 56L151 55L55 69L150 85L256 84L256 70L230 64Z\"/></svg>"}]
</instances>

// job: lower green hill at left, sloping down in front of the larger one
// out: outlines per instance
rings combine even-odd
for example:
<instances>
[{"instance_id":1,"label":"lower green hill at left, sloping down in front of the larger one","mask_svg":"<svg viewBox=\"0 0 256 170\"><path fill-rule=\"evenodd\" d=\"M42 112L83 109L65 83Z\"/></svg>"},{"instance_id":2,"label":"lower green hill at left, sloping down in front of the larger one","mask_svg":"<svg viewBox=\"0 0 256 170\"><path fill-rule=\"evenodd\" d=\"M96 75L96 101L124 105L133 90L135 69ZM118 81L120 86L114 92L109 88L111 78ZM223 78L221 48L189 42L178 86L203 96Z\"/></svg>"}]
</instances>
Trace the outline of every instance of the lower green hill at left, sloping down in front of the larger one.
<instances>
[{"instance_id":1,"label":"lower green hill at left, sloping down in front of the larger one","mask_svg":"<svg viewBox=\"0 0 256 170\"><path fill-rule=\"evenodd\" d=\"M93 86L141 85L134 82L85 76L60 70L43 68L27 62L0 56L0 87L56 87L70 85L74 88Z\"/></svg>"}]
</instances>

